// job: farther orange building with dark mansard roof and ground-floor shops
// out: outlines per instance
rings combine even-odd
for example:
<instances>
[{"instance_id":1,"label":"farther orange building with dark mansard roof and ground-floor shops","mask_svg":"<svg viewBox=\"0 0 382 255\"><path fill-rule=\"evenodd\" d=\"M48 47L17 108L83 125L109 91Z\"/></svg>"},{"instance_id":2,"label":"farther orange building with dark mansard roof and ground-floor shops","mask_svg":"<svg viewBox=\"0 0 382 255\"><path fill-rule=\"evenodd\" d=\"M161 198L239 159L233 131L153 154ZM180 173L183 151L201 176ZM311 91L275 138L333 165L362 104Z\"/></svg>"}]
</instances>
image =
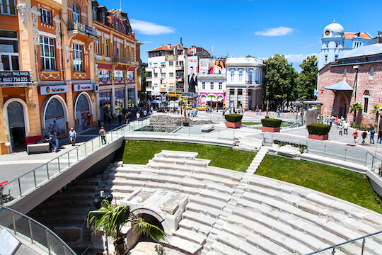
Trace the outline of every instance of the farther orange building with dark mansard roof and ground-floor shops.
<instances>
[{"instance_id":1,"label":"farther orange building with dark mansard roof and ground-floor shops","mask_svg":"<svg viewBox=\"0 0 382 255\"><path fill-rule=\"evenodd\" d=\"M101 122L137 106L140 87L140 45L134 38L127 13L108 11L92 1L99 85L98 111Z\"/></svg>"}]
</instances>

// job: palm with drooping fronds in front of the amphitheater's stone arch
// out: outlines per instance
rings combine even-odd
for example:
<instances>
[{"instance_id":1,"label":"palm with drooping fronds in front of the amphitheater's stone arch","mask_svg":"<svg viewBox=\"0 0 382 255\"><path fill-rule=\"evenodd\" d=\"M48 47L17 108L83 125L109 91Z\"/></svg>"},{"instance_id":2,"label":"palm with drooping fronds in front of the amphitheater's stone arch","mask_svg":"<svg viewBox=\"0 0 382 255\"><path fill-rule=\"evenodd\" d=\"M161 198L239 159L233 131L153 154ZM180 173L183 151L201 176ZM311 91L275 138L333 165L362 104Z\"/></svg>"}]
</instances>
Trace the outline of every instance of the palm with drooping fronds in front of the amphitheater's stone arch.
<instances>
[{"instance_id":1,"label":"palm with drooping fronds in front of the amphitheater's stone arch","mask_svg":"<svg viewBox=\"0 0 382 255\"><path fill-rule=\"evenodd\" d=\"M121 229L127 222L132 223L134 232L149 235L156 242L161 242L168 236L159 227L145 222L138 215L134 215L134 210L130 210L129 205L113 206L108 200L103 200L100 209L89 212L87 225L93 228L95 234L104 232L106 237L112 237L115 254L125 255L127 254L125 237Z\"/></svg>"}]
</instances>

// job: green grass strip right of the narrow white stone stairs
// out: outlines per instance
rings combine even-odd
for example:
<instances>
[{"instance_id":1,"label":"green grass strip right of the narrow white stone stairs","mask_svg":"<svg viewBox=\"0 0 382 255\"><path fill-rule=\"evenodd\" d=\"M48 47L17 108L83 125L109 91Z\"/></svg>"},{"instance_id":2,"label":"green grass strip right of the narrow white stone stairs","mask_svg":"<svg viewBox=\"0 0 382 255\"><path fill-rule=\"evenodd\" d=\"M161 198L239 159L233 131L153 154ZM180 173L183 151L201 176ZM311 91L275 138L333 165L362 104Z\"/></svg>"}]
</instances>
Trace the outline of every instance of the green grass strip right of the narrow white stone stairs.
<instances>
[{"instance_id":1,"label":"green grass strip right of the narrow white stone stairs","mask_svg":"<svg viewBox=\"0 0 382 255\"><path fill-rule=\"evenodd\" d=\"M265 156L256 174L311 188L382 213L381 200L364 174L272 155Z\"/></svg>"}]
</instances>

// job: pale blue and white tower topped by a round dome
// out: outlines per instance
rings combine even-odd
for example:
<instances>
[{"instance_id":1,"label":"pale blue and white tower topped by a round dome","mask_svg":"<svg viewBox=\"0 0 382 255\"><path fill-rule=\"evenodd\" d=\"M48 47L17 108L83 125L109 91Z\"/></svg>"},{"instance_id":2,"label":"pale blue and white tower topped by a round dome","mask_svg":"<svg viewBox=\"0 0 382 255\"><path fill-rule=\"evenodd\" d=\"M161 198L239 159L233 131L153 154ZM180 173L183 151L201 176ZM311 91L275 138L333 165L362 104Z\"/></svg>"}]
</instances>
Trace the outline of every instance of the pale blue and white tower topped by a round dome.
<instances>
[{"instance_id":1,"label":"pale blue and white tower topped by a round dome","mask_svg":"<svg viewBox=\"0 0 382 255\"><path fill-rule=\"evenodd\" d=\"M342 57L344 40L344 28L339 23L333 21L333 23L324 28L323 37L321 38L320 57L318 58L318 69Z\"/></svg>"}]
</instances>

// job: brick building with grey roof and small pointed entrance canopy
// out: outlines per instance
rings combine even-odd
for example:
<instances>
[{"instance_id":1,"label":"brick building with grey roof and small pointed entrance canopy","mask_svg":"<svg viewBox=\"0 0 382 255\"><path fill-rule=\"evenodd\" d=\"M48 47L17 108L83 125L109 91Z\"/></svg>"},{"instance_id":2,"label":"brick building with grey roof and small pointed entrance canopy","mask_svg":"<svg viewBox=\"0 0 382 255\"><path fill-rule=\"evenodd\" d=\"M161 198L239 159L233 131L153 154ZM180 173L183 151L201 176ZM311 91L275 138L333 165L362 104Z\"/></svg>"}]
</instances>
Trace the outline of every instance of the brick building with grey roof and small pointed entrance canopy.
<instances>
[{"instance_id":1,"label":"brick building with grey roof and small pointed entrance canopy","mask_svg":"<svg viewBox=\"0 0 382 255\"><path fill-rule=\"evenodd\" d=\"M375 125L373 106L382 105L382 43L359 47L344 53L318 71L318 101L322 114L344 116L353 123L349 105L360 102L362 111L357 123Z\"/></svg>"}]
</instances>

